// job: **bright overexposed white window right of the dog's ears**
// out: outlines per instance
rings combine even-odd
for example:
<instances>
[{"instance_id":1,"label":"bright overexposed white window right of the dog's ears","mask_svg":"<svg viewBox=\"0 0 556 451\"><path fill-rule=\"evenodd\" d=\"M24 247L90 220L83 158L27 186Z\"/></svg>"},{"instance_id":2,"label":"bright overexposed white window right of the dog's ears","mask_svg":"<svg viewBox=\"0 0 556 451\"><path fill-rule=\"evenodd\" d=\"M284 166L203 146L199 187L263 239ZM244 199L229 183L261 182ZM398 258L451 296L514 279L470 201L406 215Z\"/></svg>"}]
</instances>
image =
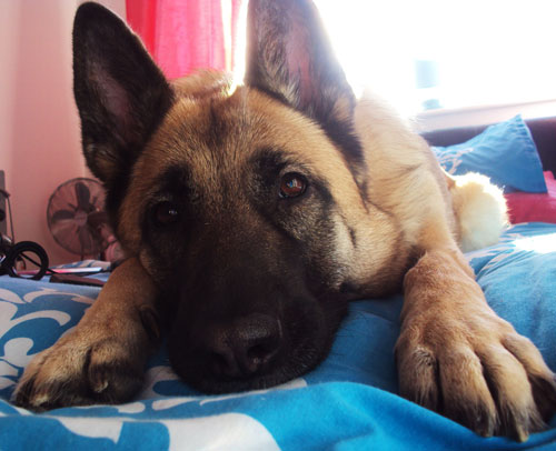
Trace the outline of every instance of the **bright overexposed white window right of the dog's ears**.
<instances>
[{"instance_id":1,"label":"bright overexposed white window right of the dog's ears","mask_svg":"<svg viewBox=\"0 0 556 451\"><path fill-rule=\"evenodd\" d=\"M554 0L316 0L356 89L404 112L556 99Z\"/></svg>"}]
</instances>

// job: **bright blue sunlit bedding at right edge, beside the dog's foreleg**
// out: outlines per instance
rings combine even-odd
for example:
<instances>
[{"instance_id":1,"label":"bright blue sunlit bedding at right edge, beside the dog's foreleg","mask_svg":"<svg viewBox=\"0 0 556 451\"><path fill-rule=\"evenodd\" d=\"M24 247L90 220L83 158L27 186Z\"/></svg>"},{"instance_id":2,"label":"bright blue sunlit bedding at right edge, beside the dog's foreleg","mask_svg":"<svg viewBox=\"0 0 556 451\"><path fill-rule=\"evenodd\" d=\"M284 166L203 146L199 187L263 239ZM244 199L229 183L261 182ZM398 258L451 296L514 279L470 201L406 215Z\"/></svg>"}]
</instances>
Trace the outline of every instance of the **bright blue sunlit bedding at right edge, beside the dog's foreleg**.
<instances>
[{"instance_id":1,"label":"bright blue sunlit bedding at right edge, beside the dog's foreleg","mask_svg":"<svg viewBox=\"0 0 556 451\"><path fill-rule=\"evenodd\" d=\"M555 371L556 227L539 222L513 225L498 243L466 257L488 304L532 339Z\"/></svg>"}]
</instances>

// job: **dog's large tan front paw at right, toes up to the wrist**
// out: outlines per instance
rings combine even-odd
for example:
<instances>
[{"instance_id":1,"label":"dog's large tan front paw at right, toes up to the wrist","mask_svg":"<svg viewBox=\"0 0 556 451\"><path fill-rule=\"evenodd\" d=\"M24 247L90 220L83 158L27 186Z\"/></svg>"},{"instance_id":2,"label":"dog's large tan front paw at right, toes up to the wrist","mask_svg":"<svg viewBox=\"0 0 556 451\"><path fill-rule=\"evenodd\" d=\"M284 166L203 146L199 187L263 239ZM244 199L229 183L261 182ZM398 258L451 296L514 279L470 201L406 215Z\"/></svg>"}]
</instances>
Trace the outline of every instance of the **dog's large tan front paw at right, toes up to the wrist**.
<instances>
[{"instance_id":1,"label":"dog's large tan front paw at right, toes up to the wrist","mask_svg":"<svg viewBox=\"0 0 556 451\"><path fill-rule=\"evenodd\" d=\"M481 435L524 441L556 411L554 373L494 312L409 318L396 355L401 395Z\"/></svg>"}]
</instances>

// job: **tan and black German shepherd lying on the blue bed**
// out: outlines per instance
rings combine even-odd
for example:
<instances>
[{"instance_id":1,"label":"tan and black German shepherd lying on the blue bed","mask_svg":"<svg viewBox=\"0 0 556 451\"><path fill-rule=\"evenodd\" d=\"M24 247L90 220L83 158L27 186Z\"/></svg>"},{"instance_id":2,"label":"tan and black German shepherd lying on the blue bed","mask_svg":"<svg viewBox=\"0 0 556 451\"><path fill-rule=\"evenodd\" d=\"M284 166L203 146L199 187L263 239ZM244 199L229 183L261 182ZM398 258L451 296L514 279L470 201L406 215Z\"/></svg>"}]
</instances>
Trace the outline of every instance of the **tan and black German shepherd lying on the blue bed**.
<instances>
[{"instance_id":1,"label":"tan and black German shepherd lying on the blue bed","mask_svg":"<svg viewBox=\"0 0 556 451\"><path fill-rule=\"evenodd\" d=\"M244 84L170 83L119 18L79 8L83 153L130 258L14 402L127 401L162 335L191 387L271 387L327 355L348 301L403 288L400 394L483 435L542 429L554 374L460 250L496 241L499 193L448 177L386 106L356 98L309 0L251 0L247 34Z\"/></svg>"}]
</instances>

